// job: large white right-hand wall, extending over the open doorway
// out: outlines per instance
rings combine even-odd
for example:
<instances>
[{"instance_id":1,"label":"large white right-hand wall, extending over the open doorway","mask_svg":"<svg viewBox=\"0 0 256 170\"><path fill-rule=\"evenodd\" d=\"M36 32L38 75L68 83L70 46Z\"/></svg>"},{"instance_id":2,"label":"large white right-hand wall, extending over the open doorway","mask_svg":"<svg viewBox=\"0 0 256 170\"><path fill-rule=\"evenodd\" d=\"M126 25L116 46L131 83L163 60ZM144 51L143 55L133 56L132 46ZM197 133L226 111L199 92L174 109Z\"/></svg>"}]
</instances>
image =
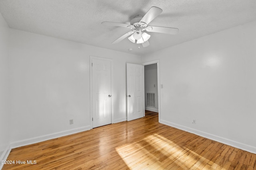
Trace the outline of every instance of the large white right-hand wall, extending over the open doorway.
<instances>
[{"instance_id":1,"label":"large white right-hand wall, extending over the open doorway","mask_svg":"<svg viewBox=\"0 0 256 170\"><path fill-rule=\"evenodd\" d=\"M160 60L160 122L256 153L255 30L256 21L142 56Z\"/></svg>"}]
</instances>

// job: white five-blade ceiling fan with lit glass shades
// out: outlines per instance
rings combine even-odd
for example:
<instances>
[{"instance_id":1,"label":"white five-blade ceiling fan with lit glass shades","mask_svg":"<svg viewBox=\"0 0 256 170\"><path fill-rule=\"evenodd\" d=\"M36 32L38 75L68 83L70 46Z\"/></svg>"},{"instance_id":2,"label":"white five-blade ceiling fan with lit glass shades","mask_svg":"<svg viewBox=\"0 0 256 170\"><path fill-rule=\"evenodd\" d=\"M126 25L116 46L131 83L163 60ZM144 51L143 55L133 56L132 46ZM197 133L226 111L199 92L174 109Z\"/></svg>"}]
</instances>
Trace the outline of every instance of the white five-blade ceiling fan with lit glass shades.
<instances>
[{"instance_id":1,"label":"white five-blade ceiling fan with lit glass shades","mask_svg":"<svg viewBox=\"0 0 256 170\"><path fill-rule=\"evenodd\" d=\"M167 34L177 34L179 29L178 28L171 28L171 27L158 27L158 26L148 26L148 24L154 20L159 14L161 14L163 10L161 8L152 6L148 12L142 17L140 15L135 16L131 21L130 25L126 23L117 23L117 22L102 22L103 25L114 25L119 27L128 27L132 31L125 33L118 39L112 42L112 44L119 43L126 37L132 42L137 44L142 44L143 47L148 47L149 42L148 39L150 35L147 32L156 32L156 33L167 33Z\"/></svg>"}]
</instances>

